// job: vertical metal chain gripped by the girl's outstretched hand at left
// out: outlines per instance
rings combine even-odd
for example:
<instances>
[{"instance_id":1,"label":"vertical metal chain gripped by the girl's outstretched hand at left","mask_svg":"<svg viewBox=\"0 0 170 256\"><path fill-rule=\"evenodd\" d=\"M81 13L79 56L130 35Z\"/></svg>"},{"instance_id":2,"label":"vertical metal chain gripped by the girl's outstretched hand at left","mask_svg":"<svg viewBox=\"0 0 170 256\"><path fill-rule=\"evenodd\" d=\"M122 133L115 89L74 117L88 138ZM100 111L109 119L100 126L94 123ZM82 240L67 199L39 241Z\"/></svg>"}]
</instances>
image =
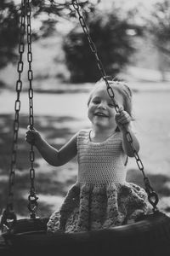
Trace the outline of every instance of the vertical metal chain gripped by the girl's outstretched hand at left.
<instances>
[{"instance_id":1,"label":"vertical metal chain gripped by the girl's outstretched hand at left","mask_svg":"<svg viewBox=\"0 0 170 256\"><path fill-rule=\"evenodd\" d=\"M33 130L34 126L34 116L33 116L33 89L32 89L32 80L33 80L33 72L31 69L31 62L32 62L32 52L31 52L31 5L30 0L26 1L26 17L27 17L27 61L29 65L28 69L28 81L29 81L29 90L28 90L28 96L29 96L29 125L30 129ZM30 188L30 195L28 196L28 209L31 212L31 218L36 218L36 212L37 212L37 195L36 195L36 189L34 186L35 181L35 170L34 170L34 149L33 145L31 145L30 150L30 161L31 161L31 168L30 168L30 180L31 180L31 188Z\"/></svg>"}]
</instances>

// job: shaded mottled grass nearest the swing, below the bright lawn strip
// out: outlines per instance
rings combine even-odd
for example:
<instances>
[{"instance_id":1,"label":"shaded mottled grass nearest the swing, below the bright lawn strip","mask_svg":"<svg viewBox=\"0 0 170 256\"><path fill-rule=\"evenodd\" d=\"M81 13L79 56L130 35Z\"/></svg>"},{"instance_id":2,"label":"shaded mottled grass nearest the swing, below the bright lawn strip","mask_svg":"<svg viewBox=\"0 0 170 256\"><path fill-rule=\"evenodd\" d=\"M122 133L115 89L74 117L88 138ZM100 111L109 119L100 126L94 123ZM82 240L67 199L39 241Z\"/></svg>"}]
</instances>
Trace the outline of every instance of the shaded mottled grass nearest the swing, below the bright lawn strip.
<instances>
[{"instance_id":1,"label":"shaded mottled grass nearest the swing, below the bright lawn strip","mask_svg":"<svg viewBox=\"0 0 170 256\"><path fill-rule=\"evenodd\" d=\"M13 115L2 114L0 115L0 201L1 211L6 207L7 195L8 195L8 172L11 161L11 145L13 139ZM60 138L61 143L52 143L56 148L59 148L63 142L65 142L72 135L72 131L65 123L74 122L71 117L56 118L51 116L36 116L36 126L39 131L48 139L48 141L55 142L56 135ZM44 123L44 119L46 122ZM30 161L29 150L30 147L25 143L26 126L28 120L26 116L20 116L20 131L18 140L18 153L17 153L17 166L14 182L14 210L18 216L26 217L29 215L27 204L28 195L30 190ZM62 127L57 128L56 123L63 124ZM21 134L20 134L21 133ZM76 159L71 160L66 166L54 167L49 166L44 160L42 160L40 154L35 148L36 160L34 163L36 178L35 187L37 191L38 210L37 216L47 217L55 209L59 207L62 199L65 197L67 190L71 187L77 179L77 162ZM8 169L8 170L7 170ZM57 169L57 170L56 170ZM154 189L161 198L170 196L170 188L166 187L166 183L170 181L167 176L149 175L150 184L154 184ZM127 172L127 181L137 183L141 187L144 187L143 176L138 169L131 169ZM53 199L53 200L51 200ZM56 204L57 199L58 204ZM161 208L165 212L170 212L169 206L162 206Z\"/></svg>"}]
</instances>

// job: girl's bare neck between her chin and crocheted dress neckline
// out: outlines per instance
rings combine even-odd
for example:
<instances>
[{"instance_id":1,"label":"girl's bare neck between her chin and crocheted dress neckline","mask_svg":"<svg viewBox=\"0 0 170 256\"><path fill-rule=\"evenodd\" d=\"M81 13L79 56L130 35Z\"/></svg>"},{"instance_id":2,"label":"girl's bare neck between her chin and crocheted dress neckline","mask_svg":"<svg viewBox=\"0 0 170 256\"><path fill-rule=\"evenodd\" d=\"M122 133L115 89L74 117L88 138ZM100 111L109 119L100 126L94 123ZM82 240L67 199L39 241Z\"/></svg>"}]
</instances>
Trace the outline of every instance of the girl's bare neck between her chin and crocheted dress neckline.
<instances>
[{"instance_id":1,"label":"girl's bare neck between her chin and crocheted dress neckline","mask_svg":"<svg viewBox=\"0 0 170 256\"><path fill-rule=\"evenodd\" d=\"M104 142L108 137L116 132L116 129L100 129L99 127L93 126L90 133L91 140L96 143Z\"/></svg>"}]
</instances>

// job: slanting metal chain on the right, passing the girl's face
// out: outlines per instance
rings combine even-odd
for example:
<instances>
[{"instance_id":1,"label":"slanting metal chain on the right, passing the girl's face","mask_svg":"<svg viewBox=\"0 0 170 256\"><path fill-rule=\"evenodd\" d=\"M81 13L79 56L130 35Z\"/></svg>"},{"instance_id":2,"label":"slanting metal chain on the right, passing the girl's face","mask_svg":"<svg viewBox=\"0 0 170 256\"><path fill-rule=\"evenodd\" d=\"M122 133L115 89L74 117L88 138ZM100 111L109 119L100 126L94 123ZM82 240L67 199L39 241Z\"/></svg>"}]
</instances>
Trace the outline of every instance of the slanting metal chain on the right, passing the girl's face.
<instances>
[{"instance_id":1,"label":"slanting metal chain on the right, passing the girl's face","mask_svg":"<svg viewBox=\"0 0 170 256\"><path fill-rule=\"evenodd\" d=\"M77 0L72 0L72 5L73 5L73 8L77 11L77 15L78 15L78 18L79 18L79 21L80 21L80 25L82 26L82 30L83 30L84 34L86 35L86 37L88 39L89 47L90 47L92 53L95 56L97 66L99 67L99 72L101 73L102 78L105 80L108 95L111 97L111 101L113 102L114 108L116 109L116 113L118 113L119 112L119 106L116 103L114 91L112 90L112 88L111 88L111 86L110 86L110 84L107 80L105 69L102 65L102 62L99 59L99 55L98 55L97 49L95 47L95 44L94 44L92 38L90 37L86 22L85 22L85 20L82 16L82 14L80 13L80 7L79 7L79 4L77 3ZM142 172L142 174L144 176L144 186L145 186L145 191L148 195L148 201L152 205L153 211L155 212L155 211L158 210L157 207L156 207L156 205L159 201L158 195L156 194L154 189L152 189L152 187L150 186L149 178L146 177L145 174L144 174L144 166L143 166L142 160L140 160L139 154L138 154L138 152L136 151L136 149L134 147L133 138L132 138L129 131L126 131L126 137L127 137L127 142L130 144L131 148L133 149L133 154L134 154L137 166L139 167L139 170Z\"/></svg>"}]
</instances>

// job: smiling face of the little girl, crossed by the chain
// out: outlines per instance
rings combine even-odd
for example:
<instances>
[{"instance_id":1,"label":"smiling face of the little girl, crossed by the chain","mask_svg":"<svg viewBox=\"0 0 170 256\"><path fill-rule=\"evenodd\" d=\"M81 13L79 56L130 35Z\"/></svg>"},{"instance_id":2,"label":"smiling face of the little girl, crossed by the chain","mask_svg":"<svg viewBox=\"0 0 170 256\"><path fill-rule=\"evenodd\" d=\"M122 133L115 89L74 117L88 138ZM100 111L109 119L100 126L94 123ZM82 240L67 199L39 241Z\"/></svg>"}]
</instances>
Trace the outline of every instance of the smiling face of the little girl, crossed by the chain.
<instances>
[{"instance_id":1,"label":"smiling face of the little girl, crossed by the chain","mask_svg":"<svg viewBox=\"0 0 170 256\"><path fill-rule=\"evenodd\" d=\"M119 107L123 106L122 95L115 89L115 100ZM99 85L94 90L91 100L88 105L88 118L96 127L103 129L116 129L115 121L116 110L111 98L107 93L105 84Z\"/></svg>"}]
</instances>

